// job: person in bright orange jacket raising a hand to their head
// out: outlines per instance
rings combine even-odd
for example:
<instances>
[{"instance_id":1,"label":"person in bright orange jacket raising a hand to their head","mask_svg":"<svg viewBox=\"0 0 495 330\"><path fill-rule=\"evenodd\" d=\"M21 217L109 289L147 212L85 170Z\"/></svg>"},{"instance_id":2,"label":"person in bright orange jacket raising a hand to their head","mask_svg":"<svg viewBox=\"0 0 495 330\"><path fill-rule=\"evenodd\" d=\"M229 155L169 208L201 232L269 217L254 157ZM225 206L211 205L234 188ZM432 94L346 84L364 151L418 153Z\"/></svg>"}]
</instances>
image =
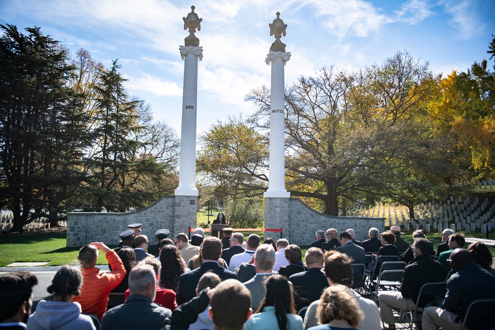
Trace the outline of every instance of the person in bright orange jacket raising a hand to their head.
<instances>
[{"instance_id":1,"label":"person in bright orange jacket raising a hand to their head","mask_svg":"<svg viewBox=\"0 0 495 330\"><path fill-rule=\"evenodd\" d=\"M100 274L99 268L95 267L98 260L98 250L105 253L106 260L112 269L111 272ZM124 264L117 253L102 242L93 242L83 246L79 250L77 260L81 264L83 285L81 286L81 294L75 296L72 301L81 304L83 313L94 314L101 320L106 312L108 292L119 285L126 275Z\"/></svg>"}]
</instances>

